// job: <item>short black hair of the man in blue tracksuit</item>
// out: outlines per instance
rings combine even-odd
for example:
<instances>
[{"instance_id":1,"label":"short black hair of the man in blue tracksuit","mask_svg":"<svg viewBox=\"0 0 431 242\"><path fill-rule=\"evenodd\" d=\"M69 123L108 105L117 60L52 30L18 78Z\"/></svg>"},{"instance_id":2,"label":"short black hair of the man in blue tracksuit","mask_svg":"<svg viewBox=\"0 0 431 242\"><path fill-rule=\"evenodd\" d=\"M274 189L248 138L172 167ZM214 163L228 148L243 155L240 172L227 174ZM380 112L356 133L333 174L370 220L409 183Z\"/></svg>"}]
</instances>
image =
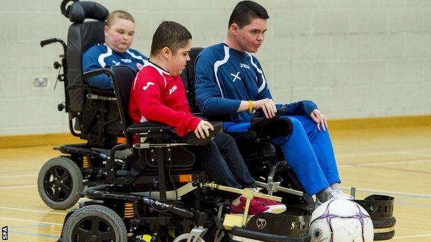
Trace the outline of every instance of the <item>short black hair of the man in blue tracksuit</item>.
<instances>
[{"instance_id":1,"label":"short black hair of the man in blue tracksuit","mask_svg":"<svg viewBox=\"0 0 431 242\"><path fill-rule=\"evenodd\" d=\"M233 8L227 28L229 28L232 23L236 23L238 27L242 28L256 18L269 19L267 10L254 1L240 1L235 8Z\"/></svg>"}]
</instances>

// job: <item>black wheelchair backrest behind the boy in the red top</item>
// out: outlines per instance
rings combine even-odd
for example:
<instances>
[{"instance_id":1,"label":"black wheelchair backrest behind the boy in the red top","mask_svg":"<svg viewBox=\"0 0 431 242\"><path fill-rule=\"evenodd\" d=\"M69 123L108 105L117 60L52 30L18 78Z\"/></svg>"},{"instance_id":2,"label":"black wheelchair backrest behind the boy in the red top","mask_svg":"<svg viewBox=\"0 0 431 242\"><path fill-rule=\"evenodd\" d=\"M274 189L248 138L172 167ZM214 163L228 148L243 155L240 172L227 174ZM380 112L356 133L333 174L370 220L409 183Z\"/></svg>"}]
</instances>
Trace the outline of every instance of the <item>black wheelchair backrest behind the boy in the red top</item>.
<instances>
[{"instance_id":1,"label":"black wheelchair backrest behind the boy in the red top","mask_svg":"<svg viewBox=\"0 0 431 242\"><path fill-rule=\"evenodd\" d=\"M111 67L114 77L113 85L119 106L119 117L122 120L123 132L128 145L133 143L133 137L127 132L127 128L132 125L132 120L128 114L128 102L130 101L131 86L136 76L136 71L126 65L113 65Z\"/></svg>"}]
</instances>

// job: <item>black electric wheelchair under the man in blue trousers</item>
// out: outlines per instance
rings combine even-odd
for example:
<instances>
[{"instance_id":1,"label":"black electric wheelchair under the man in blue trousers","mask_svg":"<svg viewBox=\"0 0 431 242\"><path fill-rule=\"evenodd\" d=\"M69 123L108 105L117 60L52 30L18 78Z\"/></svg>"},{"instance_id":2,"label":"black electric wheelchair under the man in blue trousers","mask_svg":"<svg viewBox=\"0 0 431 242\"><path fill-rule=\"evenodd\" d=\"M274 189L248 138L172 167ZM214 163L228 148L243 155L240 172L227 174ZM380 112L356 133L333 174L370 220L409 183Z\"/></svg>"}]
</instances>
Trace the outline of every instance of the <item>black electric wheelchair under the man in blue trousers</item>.
<instances>
[{"instance_id":1,"label":"black electric wheelchair under the man in blue trousers","mask_svg":"<svg viewBox=\"0 0 431 242\"><path fill-rule=\"evenodd\" d=\"M195 105L194 65L196 57L202 50L203 48L191 48L189 53L190 61L186 65L186 70L182 72L182 79L192 112L200 112ZM266 119L262 113L256 113L255 119L251 121L249 131L228 132L228 134L236 138L247 168L251 176L256 179L256 185L260 188L265 188L263 192L280 196L284 203L312 212L314 210L314 200L303 192L302 185L296 175L284 161L280 148L270 142L273 134L263 128L268 123L277 125L277 118L283 112L285 110L277 110L276 117L270 120ZM217 116L207 118L229 120L231 117ZM352 188L351 195L353 197L355 197L355 191L356 188ZM374 241L392 239L395 234L394 226L396 224L396 219L393 216L394 198L392 196L372 194L363 200L356 199L354 201L370 214L374 226Z\"/></svg>"}]
</instances>

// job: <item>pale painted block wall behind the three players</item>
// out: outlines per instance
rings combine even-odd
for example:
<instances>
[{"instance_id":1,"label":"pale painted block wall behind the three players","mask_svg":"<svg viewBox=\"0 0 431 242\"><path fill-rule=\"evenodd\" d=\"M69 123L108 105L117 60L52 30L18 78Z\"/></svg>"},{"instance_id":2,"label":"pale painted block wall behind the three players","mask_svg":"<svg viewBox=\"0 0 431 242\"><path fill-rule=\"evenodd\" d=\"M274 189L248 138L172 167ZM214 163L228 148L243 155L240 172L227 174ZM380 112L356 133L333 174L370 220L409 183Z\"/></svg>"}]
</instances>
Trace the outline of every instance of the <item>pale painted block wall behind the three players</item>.
<instances>
[{"instance_id":1,"label":"pale painted block wall behind the three players","mask_svg":"<svg viewBox=\"0 0 431 242\"><path fill-rule=\"evenodd\" d=\"M158 23L173 20L193 34L193 46L224 39L236 1L104 0L108 10L137 21L133 48L149 53ZM257 57L278 103L312 99L327 117L431 114L431 1L271 0L268 32ZM62 83L52 90L68 19L60 1L2 0L0 9L0 135L68 132L57 111ZM48 77L48 88L32 86Z\"/></svg>"}]
</instances>

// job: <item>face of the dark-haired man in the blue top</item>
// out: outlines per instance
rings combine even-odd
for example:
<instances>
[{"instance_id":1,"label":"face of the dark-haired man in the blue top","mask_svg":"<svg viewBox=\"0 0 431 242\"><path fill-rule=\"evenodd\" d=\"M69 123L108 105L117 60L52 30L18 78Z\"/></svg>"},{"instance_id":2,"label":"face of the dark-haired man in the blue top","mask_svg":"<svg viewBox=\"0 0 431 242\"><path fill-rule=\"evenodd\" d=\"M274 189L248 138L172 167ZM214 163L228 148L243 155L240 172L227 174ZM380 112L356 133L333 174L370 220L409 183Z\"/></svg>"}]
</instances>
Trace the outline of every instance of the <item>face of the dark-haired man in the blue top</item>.
<instances>
[{"instance_id":1,"label":"face of the dark-haired man in the blue top","mask_svg":"<svg viewBox=\"0 0 431 242\"><path fill-rule=\"evenodd\" d=\"M253 19L251 22L242 28L233 30L238 46L242 51L256 53L265 39L267 31L267 19Z\"/></svg>"}]
</instances>

